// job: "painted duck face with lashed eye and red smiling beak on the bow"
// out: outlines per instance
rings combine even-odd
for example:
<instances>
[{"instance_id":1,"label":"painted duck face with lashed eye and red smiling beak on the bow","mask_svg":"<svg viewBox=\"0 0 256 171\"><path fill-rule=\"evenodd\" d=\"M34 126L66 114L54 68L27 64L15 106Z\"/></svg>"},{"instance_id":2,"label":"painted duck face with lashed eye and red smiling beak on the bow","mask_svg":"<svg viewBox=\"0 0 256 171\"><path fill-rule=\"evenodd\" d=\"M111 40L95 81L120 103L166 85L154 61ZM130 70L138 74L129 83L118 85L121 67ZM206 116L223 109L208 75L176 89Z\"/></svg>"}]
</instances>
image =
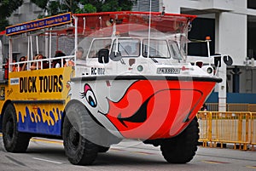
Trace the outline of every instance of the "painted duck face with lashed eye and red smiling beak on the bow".
<instances>
[{"instance_id":1,"label":"painted duck face with lashed eye and red smiling beak on the bow","mask_svg":"<svg viewBox=\"0 0 256 171\"><path fill-rule=\"evenodd\" d=\"M185 84L185 83L184 83ZM131 83L119 100L108 99L108 110L99 111L125 138L156 139L176 134L186 124L189 116L201 100L202 93L191 85L166 81L140 80ZM117 88L117 87L115 87ZM113 93L119 92L113 91ZM96 108L97 98L89 84L84 85L84 99ZM183 101L181 104L180 102ZM175 123L176 126L172 127Z\"/></svg>"}]
</instances>

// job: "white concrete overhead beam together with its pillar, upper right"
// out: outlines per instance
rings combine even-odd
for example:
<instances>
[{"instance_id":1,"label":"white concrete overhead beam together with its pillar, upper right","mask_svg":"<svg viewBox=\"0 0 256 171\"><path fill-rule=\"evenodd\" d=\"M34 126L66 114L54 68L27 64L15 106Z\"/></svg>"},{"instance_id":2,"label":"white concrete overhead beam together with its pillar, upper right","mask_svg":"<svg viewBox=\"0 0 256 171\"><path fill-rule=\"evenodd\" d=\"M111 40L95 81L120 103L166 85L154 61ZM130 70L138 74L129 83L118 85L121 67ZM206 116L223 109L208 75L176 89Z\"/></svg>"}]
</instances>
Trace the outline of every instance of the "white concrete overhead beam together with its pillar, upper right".
<instances>
[{"instance_id":1,"label":"white concrete overhead beam together with its pillar, upper right","mask_svg":"<svg viewBox=\"0 0 256 171\"><path fill-rule=\"evenodd\" d=\"M247 0L161 0L169 13L204 17L215 14L215 51L230 54L234 65L244 66L247 57Z\"/></svg>"}]
</instances>

